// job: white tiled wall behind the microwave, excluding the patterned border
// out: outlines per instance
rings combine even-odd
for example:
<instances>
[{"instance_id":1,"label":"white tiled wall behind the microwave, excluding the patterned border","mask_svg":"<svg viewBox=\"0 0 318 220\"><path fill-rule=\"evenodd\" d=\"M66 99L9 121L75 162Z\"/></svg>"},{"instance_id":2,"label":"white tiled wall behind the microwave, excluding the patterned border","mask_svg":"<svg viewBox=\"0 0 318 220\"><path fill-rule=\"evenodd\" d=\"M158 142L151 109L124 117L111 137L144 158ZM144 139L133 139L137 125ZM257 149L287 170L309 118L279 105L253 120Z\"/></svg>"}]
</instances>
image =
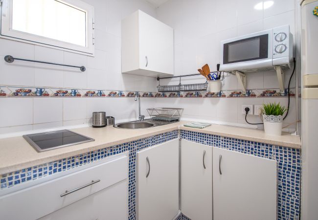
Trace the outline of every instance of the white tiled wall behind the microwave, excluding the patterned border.
<instances>
[{"instance_id":1,"label":"white tiled wall behind the microwave, excluding the patterned border","mask_svg":"<svg viewBox=\"0 0 318 220\"><path fill-rule=\"evenodd\" d=\"M172 26L175 33L175 74L197 73L208 64L216 70L220 62L220 41L228 38L289 24L295 35L296 10L294 0L273 0L272 7L255 10L262 0L169 0L157 8L157 19ZM298 61L298 63L300 63ZM291 70L285 76L287 88ZM203 77L182 78L182 83L203 83ZM176 80L162 80L160 85L178 84ZM300 85L300 84L299 84ZM295 76L291 87L295 87ZM247 75L248 89L279 88L274 71ZM233 75L227 75L222 90L241 89ZM280 102L287 106L287 98L169 98L158 99L158 106L184 108L183 116L231 123L244 123L242 104ZM285 124L296 121L295 98L291 98L290 112ZM250 122L261 122L258 116L249 116ZM295 126L291 126L291 128ZM261 126L259 126L261 128Z\"/></svg>"}]
</instances>

